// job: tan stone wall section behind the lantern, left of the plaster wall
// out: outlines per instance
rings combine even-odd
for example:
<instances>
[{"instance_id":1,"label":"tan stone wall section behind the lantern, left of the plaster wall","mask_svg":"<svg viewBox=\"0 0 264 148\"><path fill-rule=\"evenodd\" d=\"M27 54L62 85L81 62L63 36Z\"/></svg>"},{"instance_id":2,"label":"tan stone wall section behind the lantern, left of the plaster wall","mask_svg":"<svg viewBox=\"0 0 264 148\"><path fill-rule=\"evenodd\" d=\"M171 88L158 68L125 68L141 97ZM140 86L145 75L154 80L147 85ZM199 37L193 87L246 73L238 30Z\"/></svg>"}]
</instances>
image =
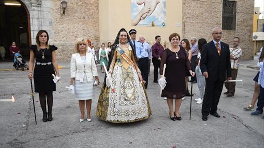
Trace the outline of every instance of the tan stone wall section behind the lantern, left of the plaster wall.
<instances>
[{"instance_id":1,"label":"tan stone wall section behind the lantern, left of the plaster wall","mask_svg":"<svg viewBox=\"0 0 264 148\"><path fill-rule=\"evenodd\" d=\"M61 15L60 1L53 1L52 43L58 47L57 60L70 60L76 39L84 37L99 42L98 0L67 1L65 15Z\"/></svg>"}]
</instances>

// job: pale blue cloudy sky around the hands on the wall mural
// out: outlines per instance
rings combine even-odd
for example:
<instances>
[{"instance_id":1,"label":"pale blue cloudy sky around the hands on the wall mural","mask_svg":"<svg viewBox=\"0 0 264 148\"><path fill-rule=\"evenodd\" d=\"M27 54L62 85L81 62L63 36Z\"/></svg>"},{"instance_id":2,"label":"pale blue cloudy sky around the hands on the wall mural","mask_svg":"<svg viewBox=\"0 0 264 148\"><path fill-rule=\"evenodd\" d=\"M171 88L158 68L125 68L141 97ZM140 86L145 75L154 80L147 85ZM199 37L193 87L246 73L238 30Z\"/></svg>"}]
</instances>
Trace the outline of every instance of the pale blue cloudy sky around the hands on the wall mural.
<instances>
[{"instance_id":1,"label":"pale blue cloudy sky around the hands on the wall mural","mask_svg":"<svg viewBox=\"0 0 264 148\"><path fill-rule=\"evenodd\" d=\"M144 7L144 4L138 5L138 0L131 0L131 20L140 12ZM152 21L155 21L155 26L162 26L162 23L166 20L166 2L161 0L157 5L154 12L147 16L144 20L141 20L137 26L151 26ZM165 22L166 23L166 22Z\"/></svg>"}]
</instances>

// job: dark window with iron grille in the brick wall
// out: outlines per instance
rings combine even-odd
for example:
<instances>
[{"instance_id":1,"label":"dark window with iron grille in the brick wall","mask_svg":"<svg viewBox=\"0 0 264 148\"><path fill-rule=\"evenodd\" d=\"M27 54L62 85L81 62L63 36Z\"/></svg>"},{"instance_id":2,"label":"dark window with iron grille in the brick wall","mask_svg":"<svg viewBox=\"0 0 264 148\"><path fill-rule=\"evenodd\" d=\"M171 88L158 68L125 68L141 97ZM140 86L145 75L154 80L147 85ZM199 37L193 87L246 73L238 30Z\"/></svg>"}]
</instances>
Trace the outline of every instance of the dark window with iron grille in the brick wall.
<instances>
[{"instance_id":1,"label":"dark window with iron grille in the brick wall","mask_svg":"<svg viewBox=\"0 0 264 148\"><path fill-rule=\"evenodd\" d=\"M236 1L223 0L223 30L235 30Z\"/></svg>"}]
</instances>

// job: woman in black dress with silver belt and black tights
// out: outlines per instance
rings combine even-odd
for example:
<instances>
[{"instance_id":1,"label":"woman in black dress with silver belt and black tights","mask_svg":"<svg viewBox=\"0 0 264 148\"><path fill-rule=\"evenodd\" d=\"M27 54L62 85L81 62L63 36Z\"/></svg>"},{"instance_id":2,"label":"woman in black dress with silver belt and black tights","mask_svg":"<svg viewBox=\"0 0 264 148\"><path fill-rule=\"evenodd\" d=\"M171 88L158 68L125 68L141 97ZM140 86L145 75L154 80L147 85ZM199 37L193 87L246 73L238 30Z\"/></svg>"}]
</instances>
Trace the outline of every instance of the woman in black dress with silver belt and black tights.
<instances>
[{"instance_id":1,"label":"woman in black dress with silver belt and black tights","mask_svg":"<svg viewBox=\"0 0 264 148\"><path fill-rule=\"evenodd\" d=\"M54 45L49 45L49 35L46 30L39 30L36 36L37 45L30 46L30 59L29 59L29 79L33 77L34 69L34 85L35 92L39 94L41 109L43 112L43 122L52 121L52 104L53 95L52 91L56 90L56 85L53 82L52 74L59 77L58 64L56 61L56 52L58 48ZM55 71L56 74L55 74ZM46 111L46 98L48 104L48 113ZM48 115L48 117L47 117Z\"/></svg>"}]
</instances>

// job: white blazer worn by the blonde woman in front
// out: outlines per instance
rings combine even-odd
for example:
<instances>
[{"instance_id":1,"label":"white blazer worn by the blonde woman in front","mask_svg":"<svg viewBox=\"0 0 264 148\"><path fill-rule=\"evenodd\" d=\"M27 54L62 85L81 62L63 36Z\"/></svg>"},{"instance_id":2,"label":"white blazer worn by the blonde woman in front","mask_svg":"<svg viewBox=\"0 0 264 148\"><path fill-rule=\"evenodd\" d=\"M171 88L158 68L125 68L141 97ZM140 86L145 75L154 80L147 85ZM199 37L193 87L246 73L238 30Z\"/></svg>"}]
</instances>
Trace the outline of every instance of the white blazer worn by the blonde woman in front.
<instances>
[{"instance_id":1,"label":"white blazer worn by the blonde woman in front","mask_svg":"<svg viewBox=\"0 0 264 148\"><path fill-rule=\"evenodd\" d=\"M88 82L93 80L95 76L98 76L93 55L86 53L86 62L84 63L79 53L72 54L70 60L70 77L83 82L84 74L86 74Z\"/></svg>"}]
</instances>

